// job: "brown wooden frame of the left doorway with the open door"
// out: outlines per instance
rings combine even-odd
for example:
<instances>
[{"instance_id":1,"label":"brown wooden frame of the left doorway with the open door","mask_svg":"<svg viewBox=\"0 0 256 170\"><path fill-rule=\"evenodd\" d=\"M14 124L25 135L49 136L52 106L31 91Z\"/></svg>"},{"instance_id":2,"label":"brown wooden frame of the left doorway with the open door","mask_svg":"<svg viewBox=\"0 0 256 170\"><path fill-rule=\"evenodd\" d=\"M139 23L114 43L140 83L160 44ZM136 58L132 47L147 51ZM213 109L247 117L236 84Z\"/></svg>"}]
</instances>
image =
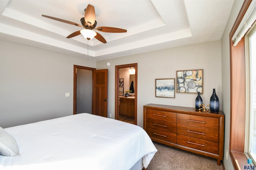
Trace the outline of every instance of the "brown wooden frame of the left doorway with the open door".
<instances>
[{"instance_id":1,"label":"brown wooden frame of the left doorway with the open door","mask_svg":"<svg viewBox=\"0 0 256 170\"><path fill-rule=\"evenodd\" d=\"M84 70L96 70L96 68L86 67L86 66L78 66L74 65L74 76L73 76L73 115L76 114L76 86L77 86L77 72L76 69L84 69Z\"/></svg>"}]
</instances>

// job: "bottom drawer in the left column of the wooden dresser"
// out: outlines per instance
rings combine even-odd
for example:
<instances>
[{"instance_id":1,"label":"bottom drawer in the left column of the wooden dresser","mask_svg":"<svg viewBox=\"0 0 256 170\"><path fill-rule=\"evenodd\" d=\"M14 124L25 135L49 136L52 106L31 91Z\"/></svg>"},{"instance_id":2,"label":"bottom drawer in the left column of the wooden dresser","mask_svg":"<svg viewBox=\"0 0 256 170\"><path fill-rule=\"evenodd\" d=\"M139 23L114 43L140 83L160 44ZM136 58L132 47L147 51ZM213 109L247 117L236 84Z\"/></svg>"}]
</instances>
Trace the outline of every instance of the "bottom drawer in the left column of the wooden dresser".
<instances>
[{"instance_id":1,"label":"bottom drawer in the left column of the wooden dresser","mask_svg":"<svg viewBox=\"0 0 256 170\"><path fill-rule=\"evenodd\" d=\"M147 127L146 129L148 135L150 137L161 139L163 141L167 141L170 143L176 143L176 133L171 133L167 131L159 131L157 129L153 129L150 127Z\"/></svg>"}]
</instances>

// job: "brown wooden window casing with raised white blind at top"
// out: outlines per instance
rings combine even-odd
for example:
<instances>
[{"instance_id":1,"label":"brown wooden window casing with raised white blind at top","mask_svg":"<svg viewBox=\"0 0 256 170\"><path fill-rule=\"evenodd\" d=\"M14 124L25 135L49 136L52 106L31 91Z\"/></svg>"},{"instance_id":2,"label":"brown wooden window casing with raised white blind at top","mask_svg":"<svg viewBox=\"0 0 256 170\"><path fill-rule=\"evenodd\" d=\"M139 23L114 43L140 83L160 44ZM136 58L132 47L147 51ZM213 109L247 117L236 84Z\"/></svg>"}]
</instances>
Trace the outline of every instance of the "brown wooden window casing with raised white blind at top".
<instances>
[{"instance_id":1,"label":"brown wooden window casing with raised white blind at top","mask_svg":"<svg viewBox=\"0 0 256 170\"><path fill-rule=\"evenodd\" d=\"M244 34L255 21L256 0L244 0L230 31L230 158L235 170L248 166L246 149L246 61ZM250 23L250 24L249 24Z\"/></svg>"}]
</instances>

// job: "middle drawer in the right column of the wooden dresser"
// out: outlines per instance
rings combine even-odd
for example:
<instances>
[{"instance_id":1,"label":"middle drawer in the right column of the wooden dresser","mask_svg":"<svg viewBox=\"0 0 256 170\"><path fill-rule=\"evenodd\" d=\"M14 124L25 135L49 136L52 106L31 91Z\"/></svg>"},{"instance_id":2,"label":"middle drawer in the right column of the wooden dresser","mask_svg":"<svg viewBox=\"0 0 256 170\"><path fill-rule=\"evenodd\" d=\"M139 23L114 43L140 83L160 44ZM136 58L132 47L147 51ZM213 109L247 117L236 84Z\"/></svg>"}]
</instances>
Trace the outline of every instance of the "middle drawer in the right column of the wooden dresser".
<instances>
[{"instance_id":1,"label":"middle drawer in the right column of the wooden dresser","mask_svg":"<svg viewBox=\"0 0 256 170\"><path fill-rule=\"evenodd\" d=\"M218 129L177 124L177 134L218 142Z\"/></svg>"}]
</instances>

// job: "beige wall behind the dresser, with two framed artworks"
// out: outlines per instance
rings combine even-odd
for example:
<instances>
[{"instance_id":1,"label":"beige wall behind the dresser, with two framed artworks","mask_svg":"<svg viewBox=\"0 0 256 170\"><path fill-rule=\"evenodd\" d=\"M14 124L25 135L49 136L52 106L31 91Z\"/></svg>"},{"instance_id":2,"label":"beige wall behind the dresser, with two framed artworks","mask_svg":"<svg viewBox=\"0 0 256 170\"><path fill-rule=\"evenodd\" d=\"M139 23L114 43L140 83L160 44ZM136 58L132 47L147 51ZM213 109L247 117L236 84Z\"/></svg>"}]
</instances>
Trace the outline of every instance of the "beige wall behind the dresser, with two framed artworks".
<instances>
[{"instance_id":1,"label":"beige wall behind the dresser, with two framed artworks","mask_svg":"<svg viewBox=\"0 0 256 170\"><path fill-rule=\"evenodd\" d=\"M106 66L106 62L111 65ZM203 69L205 104L209 104L212 89L222 103L221 42L212 41L160 51L120 57L97 62L97 69L108 68L108 115L115 110L115 66L138 63L138 125L143 127L143 106L149 103L194 107L197 94L176 93L176 98L155 97L155 79L176 78L177 70ZM112 116L112 118L114 118Z\"/></svg>"}]
</instances>

